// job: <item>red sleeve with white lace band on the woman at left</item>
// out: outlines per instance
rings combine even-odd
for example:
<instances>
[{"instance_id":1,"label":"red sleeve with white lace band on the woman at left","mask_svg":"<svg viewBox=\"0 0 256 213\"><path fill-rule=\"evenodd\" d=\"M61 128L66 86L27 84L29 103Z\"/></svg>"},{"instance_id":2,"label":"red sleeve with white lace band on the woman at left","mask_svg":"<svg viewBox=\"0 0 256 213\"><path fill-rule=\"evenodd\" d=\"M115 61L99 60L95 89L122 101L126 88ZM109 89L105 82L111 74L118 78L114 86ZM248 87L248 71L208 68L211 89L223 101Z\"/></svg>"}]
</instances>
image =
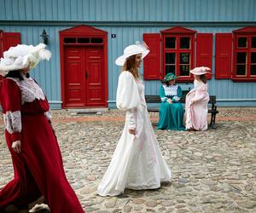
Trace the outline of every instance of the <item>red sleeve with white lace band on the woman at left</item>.
<instances>
[{"instance_id":1,"label":"red sleeve with white lace band on the woman at left","mask_svg":"<svg viewBox=\"0 0 256 213\"><path fill-rule=\"evenodd\" d=\"M5 129L12 141L20 141L21 132L21 93L20 88L12 79L6 78L0 88L1 105Z\"/></svg>"}]
</instances>

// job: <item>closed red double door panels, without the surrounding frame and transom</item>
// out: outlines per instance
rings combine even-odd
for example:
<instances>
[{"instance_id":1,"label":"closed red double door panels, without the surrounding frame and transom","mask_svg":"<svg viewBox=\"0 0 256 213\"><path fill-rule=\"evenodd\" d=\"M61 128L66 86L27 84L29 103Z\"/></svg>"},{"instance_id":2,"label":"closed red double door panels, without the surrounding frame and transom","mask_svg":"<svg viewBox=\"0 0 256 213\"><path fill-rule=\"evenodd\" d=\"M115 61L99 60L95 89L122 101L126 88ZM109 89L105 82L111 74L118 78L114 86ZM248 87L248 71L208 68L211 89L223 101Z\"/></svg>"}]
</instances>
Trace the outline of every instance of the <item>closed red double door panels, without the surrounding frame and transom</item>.
<instances>
[{"instance_id":1,"label":"closed red double door panels, without the surrounding frame and transom","mask_svg":"<svg viewBox=\"0 0 256 213\"><path fill-rule=\"evenodd\" d=\"M104 107L102 47L65 47L63 107Z\"/></svg>"}]
</instances>

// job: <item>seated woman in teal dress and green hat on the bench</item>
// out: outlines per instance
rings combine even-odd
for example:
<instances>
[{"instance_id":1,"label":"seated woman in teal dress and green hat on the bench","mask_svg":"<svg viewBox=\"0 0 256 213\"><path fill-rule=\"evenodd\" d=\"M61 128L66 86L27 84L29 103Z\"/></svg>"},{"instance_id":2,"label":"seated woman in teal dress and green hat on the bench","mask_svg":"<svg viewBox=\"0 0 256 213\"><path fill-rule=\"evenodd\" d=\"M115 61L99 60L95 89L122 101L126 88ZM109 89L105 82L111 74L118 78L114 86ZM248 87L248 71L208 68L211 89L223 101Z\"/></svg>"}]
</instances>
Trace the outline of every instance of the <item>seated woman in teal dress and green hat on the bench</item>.
<instances>
[{"instance_id":1,"label":"seated woman in teal dress and green hat on the bench","mask_svg":"<svg viewBox=\"0 0 256 213\"><path fill-rule=\"evenodd\" d=\"M167 73L164 79L165 84L160 86L160 111L159 130L185 130L183 126L184 110L179 102L182 97L182 89L175 84L177 77L173 73Z\"/></svg>"}]
</instances>

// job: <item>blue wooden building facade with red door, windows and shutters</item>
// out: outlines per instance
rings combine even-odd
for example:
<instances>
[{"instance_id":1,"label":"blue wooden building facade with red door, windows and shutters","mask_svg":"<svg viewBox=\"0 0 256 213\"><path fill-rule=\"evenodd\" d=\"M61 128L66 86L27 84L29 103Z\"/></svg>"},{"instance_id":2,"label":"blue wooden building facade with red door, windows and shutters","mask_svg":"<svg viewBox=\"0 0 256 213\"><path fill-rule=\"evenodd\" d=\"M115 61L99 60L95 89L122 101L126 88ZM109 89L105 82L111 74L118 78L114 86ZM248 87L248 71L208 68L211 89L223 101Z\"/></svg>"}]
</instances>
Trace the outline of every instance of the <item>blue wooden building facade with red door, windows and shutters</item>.
<instances>
[{"instance_id":1,"label":"blue wooden building facade with red door, windows and shutters","mask_svg":"<svg viewBox=\"0 0 256 213\"><path fill-rule=\"evenodd\" d=\"M115 107L123 49L145 41L146 95L174 72L209 66L218 106L256 107L254 0L0 0L0 55L16 43L47 43L50 61L32 70L51 108ZM44 39L43 39L44 38Z\"/></svg>"}]
</instances>

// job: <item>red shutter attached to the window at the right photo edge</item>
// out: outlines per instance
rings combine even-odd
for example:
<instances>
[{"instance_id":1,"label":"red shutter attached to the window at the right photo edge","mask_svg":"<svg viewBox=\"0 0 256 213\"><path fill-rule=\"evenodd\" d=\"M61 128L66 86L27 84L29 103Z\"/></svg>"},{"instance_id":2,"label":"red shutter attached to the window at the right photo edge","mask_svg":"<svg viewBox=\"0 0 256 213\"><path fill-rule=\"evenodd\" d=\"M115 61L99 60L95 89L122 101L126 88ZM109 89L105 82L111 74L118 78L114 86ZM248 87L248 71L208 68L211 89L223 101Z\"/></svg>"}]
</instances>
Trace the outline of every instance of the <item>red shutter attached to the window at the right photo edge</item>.
<instances>
[{"instance_id":1,"label":"red shutter attached to the window at the right photo edge","mask_svg":"<svg viewBox=\"0 0 256 213\"><path fill-rule=\"evenodd\" d=\"M232 33L216 33L215 78L231 78Z\"/></svg>"}]
</instances>

